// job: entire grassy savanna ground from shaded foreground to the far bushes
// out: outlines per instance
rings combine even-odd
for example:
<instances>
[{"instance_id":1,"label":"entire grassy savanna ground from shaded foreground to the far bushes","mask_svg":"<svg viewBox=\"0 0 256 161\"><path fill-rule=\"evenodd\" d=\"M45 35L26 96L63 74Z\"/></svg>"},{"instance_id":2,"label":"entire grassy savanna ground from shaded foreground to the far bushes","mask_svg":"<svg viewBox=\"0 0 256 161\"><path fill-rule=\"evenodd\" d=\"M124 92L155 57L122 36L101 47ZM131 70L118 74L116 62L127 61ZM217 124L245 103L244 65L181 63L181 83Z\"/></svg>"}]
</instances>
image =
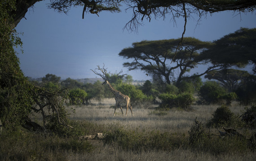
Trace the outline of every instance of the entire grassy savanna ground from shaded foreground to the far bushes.
<instances>
[{"instance_id":1,"label":"entire grassy savanna ground from shaded foreground to the far bushes","mask_svg":"<svg viewBox=\"0 0 256 161\"><path fill-rule=\"evenodd\" d=\"M115 99L93 102L90 106L73 106L70 110L71 125L77 135L59 137L54 134L3 133L0 160L36 161L255 161L255 149L248 148L246 139L203 136L203 141L189 144L190 128L195 119L206 122L220 105L194 105L192 110L156 110L157 105L132 105L122 116L114 113ZM69 107L70 108L70 107ZM230 110L241 114L244 106L233 104ZM124 115L126 109L123 109ZM31 118L40 123L40 115ZM232 127L231 127L232 128ZM221 128L207 129L207 134L219 135ZM254 131L237 129L250 138ZM81 139L81 134L103 133L103 139ZM7 137L8 136L8 137ZM3 139L6 138L4 141Z\"/></svg>"}]
</instances>

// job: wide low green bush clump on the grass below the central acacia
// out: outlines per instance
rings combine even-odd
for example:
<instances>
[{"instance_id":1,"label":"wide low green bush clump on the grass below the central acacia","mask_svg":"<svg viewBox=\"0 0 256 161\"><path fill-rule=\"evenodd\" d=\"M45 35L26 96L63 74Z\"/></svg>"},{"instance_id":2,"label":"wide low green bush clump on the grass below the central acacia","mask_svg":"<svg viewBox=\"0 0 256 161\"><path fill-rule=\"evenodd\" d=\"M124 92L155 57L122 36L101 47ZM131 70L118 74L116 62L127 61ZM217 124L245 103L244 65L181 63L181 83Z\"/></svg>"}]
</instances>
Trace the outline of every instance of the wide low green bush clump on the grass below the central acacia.
<instances>
[{"instance_id":1,"label":"wide low green bush clump on the grass below the central acacia","mask_svg":"<svg viewBox=\"0 0 256 161\"><path fill-rule=\"evenodd\" d=\"M191 104L194 102L194 97L192 93L163 93L159 95L159 99L162 100L161 107L177 107L181 109L189 109Z\"/></svg>"}]
</instances>

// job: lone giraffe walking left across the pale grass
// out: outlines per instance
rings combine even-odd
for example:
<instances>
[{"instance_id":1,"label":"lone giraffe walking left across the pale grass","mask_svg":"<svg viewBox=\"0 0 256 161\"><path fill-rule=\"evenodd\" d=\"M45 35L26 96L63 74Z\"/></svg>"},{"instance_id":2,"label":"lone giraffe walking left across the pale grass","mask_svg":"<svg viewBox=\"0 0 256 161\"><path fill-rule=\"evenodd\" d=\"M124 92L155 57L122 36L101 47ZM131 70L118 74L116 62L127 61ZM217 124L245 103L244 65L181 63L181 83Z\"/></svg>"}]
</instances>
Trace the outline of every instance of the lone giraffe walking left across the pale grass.
<instances>
[{"instance_id":1,"label":"lone giraffe walking left across the pale grass","mask_svg":"<svg viewBox=\"0 0 256 161\"><path fill-rule=\"evenodd\" d=\"M110 89L110 91L115 95L115 110L116 110L116 107L117 106L120 106L120 109L122 111L122 114L124 116L124 113L123 113L123 110L122 110L122 104L125 104L126 106L126 114L125 116L127 116L127 111L128 109L130 108L131 112L132 112L132 106L131 106L131 103L130 103L130 97L127 96L127 95L124 95L123 93L119 92L118 90L114 89L112 87L112 85L110 85L110 83L106 80L105 82L102 83L102 85L107 85L108 88ZM113 116L115 116L115 111L114 111L114 114ZM132 114L133 116L133 114Z\"/></svg>"}]
</instances>

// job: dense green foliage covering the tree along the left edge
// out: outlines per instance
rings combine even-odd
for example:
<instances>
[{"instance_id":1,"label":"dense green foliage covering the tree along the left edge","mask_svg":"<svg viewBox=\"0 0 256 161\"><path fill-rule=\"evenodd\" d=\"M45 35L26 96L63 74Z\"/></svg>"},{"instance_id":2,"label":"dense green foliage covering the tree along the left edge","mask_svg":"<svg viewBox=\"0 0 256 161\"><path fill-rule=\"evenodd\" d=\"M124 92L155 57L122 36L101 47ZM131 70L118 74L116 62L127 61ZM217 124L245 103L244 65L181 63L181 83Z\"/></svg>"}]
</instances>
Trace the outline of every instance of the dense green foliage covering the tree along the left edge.
<instances>
[{"instance_id":1,"label":"dense green foliage covering the tree along the left edge","mask_svg":"<svg viewBox=\"0 0 256 161\"><path fill-rule=\"evenodd\" d=\"M15 1L0 3L0 119L5 128L22 124L31 109L31 85L19 67L19 59L13 46L22 45L12 30ZM11 16L10 16L11 15Z\"/></svg>"}]
</instances>

